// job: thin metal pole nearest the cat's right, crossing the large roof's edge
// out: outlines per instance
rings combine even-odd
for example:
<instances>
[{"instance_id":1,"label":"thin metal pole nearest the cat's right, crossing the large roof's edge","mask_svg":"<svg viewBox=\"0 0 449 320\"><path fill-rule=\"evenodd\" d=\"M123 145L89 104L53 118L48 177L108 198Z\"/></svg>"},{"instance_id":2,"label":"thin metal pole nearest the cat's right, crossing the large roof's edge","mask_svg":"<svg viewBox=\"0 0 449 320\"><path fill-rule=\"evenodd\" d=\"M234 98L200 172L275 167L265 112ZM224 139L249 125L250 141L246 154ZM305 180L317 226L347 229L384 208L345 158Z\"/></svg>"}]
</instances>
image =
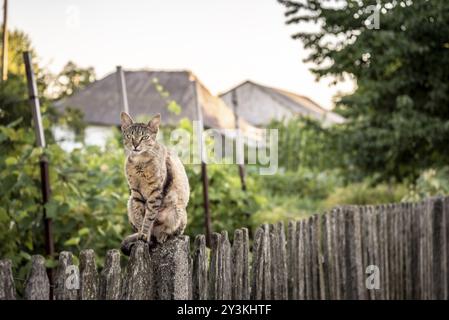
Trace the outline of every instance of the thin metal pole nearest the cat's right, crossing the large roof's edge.
<instances>
[{"instance_id":1,"label":"thin metal pole nearest the cat's right, crossing the large roof's edge","mask_svg":"<svg viewBox=\"0 0 449 320\"><path fill-rule=\"evenodd\" d=\"M209 179L207 176L207 165L204 161L204 146L203 146L203 130L204 130L204 122L203 122L203 112L201 110L201 105L198 100L198 82L197 79L191 75L191 81L193 82L193 92L194 92L194 101L196 104L196 113L197 120L199 122L199 152L201 159L201 180L203 184L203 206L204 206L204 227L206 231L206 245L208 247L211 246L211 235L212 235L212 223L210 217L210 209L209 209Z\"/></svg>"}]
</instances>

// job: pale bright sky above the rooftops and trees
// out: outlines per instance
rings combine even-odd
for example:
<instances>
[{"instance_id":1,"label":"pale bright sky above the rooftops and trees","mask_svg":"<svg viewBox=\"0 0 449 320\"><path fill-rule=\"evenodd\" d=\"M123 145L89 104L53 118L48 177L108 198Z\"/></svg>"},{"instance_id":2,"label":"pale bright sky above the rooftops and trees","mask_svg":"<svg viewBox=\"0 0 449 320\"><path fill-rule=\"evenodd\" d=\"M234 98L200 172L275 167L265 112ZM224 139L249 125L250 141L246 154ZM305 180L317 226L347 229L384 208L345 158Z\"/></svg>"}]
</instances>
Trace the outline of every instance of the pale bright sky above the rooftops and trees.
<instances>
[{"instance_id":1,"label":"pale bright sky above the rooftops and trees","mask_svg":"<svg viewBox=\"0 0 449 320\"><path fill-rule=\"evenodd\" d=\"M10 29L26 32L53 72L69 60L97 78L125 70L191 70L213 94L245 81L332 108L351 83L316 82L276 0L10 0Z\"/></svg>"}]
</instances>

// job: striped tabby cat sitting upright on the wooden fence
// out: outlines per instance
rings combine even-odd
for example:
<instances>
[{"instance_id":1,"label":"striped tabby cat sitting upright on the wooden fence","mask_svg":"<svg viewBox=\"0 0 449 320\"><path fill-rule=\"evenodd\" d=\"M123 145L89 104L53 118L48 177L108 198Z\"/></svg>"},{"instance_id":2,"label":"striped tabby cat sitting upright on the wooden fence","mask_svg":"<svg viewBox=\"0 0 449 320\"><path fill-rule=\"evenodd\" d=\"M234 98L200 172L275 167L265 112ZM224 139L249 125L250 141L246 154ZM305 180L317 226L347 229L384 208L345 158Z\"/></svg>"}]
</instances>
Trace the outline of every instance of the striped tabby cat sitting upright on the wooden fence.
<instances>
[{"instance_id":1,"label":"striped tabby cat sitting upright on the wooden fence","mask_svg":"<svg viewBox=\"0 0 449 320\"><path fill-rule=\"evenodd\" d=\"M184 232L190 187L181 160L156 141L160 114L148 124L135 123L126 112L120 120L130 189L128 219L135 232L122 242L122 252L129 255L138 240L164 243Z\"/></svg>"}]
</instances>

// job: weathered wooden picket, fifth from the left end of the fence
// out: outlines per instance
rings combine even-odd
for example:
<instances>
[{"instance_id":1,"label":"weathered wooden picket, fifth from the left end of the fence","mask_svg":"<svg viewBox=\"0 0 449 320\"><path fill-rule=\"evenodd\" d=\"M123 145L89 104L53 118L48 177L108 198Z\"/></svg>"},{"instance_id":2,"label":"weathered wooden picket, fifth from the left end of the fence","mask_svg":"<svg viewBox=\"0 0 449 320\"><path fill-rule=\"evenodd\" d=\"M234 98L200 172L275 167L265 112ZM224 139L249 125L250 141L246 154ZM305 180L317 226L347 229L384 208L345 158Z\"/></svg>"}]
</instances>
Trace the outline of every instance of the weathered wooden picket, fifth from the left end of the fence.
<instances>
[{"instance_id":1,"label":"weathered wooden picket, fifth from the left end of the fence","mask_svg":"<svg viewBox=\"0 0 449 320\"><path fill-rule=\"evenodd\" d=\"M122 271L120 251L109 250L106 253L104 268L100 273L100 293L102 300L119 300L121 298Z\"/></svg>"}]
</instances>

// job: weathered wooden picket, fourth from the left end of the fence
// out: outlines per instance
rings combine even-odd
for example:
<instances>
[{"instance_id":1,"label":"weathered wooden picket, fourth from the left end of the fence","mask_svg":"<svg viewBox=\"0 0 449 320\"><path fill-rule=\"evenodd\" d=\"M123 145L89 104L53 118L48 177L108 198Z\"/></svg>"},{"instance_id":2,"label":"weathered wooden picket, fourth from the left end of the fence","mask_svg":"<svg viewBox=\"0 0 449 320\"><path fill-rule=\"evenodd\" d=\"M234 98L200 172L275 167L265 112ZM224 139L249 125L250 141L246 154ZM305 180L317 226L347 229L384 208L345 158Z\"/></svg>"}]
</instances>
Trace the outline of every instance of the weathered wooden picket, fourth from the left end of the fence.
<instances>
[{"instance_id":1,"label":"weathered wooden picket, fourth from the left end of the fence","mask_svg":"<svg viewBox=\"0 0 449 320\"><path fill-rule=\"evenodd\" d=\"M98 272L95 252L92 249L80 252L80 300L98 299Z\"/></svg>"}]
</instances>

